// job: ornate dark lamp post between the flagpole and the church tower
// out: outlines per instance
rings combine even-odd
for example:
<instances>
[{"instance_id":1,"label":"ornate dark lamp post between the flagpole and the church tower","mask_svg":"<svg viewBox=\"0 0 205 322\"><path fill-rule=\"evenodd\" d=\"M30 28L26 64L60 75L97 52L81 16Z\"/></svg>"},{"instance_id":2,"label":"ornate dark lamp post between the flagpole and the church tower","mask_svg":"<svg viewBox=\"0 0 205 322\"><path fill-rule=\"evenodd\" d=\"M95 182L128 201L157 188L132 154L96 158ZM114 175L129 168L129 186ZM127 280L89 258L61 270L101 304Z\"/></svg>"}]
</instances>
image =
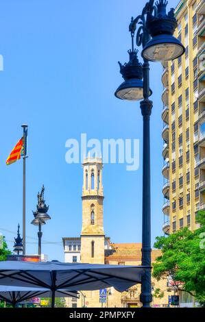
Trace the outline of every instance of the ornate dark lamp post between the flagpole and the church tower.
<instances>
[{"instance_id":1,"label":"ornate dark lamp post between the flagpole and the church tower","mask_svg":"<svg viewBox=\"0 0 205 322\"><path fill-rule=\"evenodd\" d=\"M47 214L49 206L46 206L44 199L44 186L41 189L41 193L38 193L38 205L36 206L36 212L33 212L34 219L32 220L32 225L38 226L38 255L41 255L41 238L43 232L41 231L41 226L45 225L45 222L51 217Z\"/></svg>"}]
</instances>

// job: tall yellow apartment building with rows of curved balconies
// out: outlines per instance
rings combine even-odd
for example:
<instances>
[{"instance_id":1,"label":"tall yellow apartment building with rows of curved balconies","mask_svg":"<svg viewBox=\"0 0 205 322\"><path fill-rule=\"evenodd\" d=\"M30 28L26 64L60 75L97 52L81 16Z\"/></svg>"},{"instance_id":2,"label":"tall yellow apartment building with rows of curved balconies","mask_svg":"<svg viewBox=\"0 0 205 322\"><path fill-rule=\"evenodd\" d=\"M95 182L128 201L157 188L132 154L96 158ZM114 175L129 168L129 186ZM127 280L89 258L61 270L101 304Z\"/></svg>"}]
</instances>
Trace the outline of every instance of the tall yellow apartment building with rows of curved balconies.
<instances>
[{"instance_id":1,"label":"tall yellow apartment building with rows of curved balconies","mask_svg":"<svg viewBox=\"0 0 205 322\"><path fill-rule=\"evenodd\" d=\"M205 210L205 1L180 1L175 13L186 51L162 64L165 234L195 230L195 214Z\"/></svg>"}]
</instances>

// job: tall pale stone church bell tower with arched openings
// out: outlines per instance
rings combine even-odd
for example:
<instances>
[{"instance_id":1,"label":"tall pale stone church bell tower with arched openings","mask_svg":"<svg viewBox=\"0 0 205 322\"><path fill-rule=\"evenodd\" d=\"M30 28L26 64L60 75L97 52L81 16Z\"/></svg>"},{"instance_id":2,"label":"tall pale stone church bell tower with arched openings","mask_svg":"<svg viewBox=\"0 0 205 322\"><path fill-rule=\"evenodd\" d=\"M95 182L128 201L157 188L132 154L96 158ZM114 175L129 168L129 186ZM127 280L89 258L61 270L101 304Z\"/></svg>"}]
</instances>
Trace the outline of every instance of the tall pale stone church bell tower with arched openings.
<instances>
[{"instance_id":1,"label":"tall pale stone church bell tower with arched openings","mask_svg":"<svg viewBox=\"0 0 205 322\"><path fill-rule=\"evenodd\" d=\"M82 187L81 262L104 264L104 223L101 158L85 158Z\"/></svg>"}]
</instances>

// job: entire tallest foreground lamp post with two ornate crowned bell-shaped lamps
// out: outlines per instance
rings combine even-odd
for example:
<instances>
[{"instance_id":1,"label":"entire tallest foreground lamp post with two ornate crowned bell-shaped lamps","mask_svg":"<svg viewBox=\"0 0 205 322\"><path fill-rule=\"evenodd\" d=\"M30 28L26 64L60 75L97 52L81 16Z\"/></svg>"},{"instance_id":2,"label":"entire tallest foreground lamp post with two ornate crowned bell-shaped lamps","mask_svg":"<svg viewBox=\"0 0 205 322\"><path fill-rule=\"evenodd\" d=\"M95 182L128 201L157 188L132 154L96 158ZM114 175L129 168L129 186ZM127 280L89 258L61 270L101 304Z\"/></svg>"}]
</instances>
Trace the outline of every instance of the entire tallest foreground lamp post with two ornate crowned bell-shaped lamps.
<instances>
[{"instance_id":1,"label":"entire tallest foreground lamp post with two ornate crowned bell-shaped lamps","mask_svg":"<svg viewBox=\"0 0 205 322\"><path fill-rule=\"evenodd\" d=\"M151 284L151 218L150 218L150 134L149 117L152 112L152 101L149 96L152 91L149 88L149 60L153 62L163 62L174 60L185 51L181 42L173 37L173 32L177 27L177 21L174 16L174 10L166 13L167 1L159 0L154 5L154 0L149 0L143 8L142 13L135 19L132 18L129 31L132 37L132 53L130 62L121 65L121 74L125 82L130 86L119 86L114 95L120 99L140 102L141 113L143 115L143 229L142 229L142 265L146 266L146 272L142 277L141 284L141 302L143 308L149 308L152 302L152 284ZM136 45L143 47L141 53L143 65L136 59L136 50L134 49L134 34L136 25L139 24L136 33ZM152 36L152 38L151 38ZM133 59L134 57L134 59ZM143 77L142 77L143 69ZM137 71L136 71L137 70ZM125 73L124 73L125 71ZM125 77L124 77L125 75ZM138 77L136 77L138 76ZM143 82L138 86L135 79ZM123 88L123 90L122 90Z\"/></svg>"}]
</instances>

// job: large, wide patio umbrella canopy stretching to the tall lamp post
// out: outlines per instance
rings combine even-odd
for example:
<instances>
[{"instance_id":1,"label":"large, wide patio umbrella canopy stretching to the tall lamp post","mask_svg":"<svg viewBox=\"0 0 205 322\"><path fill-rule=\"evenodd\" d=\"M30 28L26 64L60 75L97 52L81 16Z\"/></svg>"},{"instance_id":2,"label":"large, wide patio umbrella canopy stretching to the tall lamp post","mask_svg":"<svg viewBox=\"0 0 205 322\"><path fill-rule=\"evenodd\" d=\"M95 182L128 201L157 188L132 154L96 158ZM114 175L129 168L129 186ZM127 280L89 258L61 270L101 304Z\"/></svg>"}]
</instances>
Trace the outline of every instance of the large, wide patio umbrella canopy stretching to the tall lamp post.
<instances>
[{"instance_id":1,"label":"large, wide patio umbrella canopy stretching to the tall lamp post","mask_svg":"<svg viewBox=\"0 0 205 322\"><path fill-rule=\"evenodd\" d=\"M0 285L58 289L98 290L113 286L123 292L141 283L151 267L52 262L0 262Z\"/></svg>"}]
</instances>

